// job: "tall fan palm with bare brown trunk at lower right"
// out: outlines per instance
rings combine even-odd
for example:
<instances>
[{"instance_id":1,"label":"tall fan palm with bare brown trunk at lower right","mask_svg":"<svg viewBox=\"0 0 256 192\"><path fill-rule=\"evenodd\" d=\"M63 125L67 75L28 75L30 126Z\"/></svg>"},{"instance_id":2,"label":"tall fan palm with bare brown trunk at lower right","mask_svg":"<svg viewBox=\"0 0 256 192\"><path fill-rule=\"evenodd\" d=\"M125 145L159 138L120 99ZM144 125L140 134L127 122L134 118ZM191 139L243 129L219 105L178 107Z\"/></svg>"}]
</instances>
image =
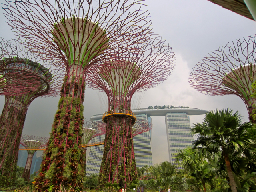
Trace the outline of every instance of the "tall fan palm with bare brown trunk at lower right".
<instances>
[{"instance_id":1,"label":"tall fan palm with bare brown trunk at lower right","mask_svg":"<svg viewBox=\"0 0 256 192\"><path fill-rule=\"evenodd\" d=\"M202 124L194 124L192 128L198 138L194 141L196 147L203 154L214 155L221 153L225 160L230 188L232 192L237 192L232 167L230 165L230 154L242 153L244 150L250 156L256 157L255 128L250 122L242 124L242 117L232 110L210 111L204 117Z\"/></svg>"}]
</instances>

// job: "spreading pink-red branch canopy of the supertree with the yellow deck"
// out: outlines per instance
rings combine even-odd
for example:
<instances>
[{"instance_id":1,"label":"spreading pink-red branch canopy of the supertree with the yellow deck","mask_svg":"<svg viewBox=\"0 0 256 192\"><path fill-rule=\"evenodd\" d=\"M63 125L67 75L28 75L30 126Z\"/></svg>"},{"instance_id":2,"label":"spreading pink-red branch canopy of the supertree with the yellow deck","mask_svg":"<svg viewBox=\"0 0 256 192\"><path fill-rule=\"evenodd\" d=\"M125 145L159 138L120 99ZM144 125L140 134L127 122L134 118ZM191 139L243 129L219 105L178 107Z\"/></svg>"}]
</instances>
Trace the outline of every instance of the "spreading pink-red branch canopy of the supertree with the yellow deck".
<instances>
[{"instance_id":1,"label":"spreading pink-red branch canopy of the supertree with the yellow deck","mask_svg":"<svg viewBox=\"0 0 256 192\"><path fill-rule=\"evenodd\" d=\"M125 54L104 58L100 68L92 66L86 79L88 86L106 92L110 102L117 94L129 101L134 92L146 91L166 80L174 69L172 48L152 35L146 36L144 46L137 49L140 45L134 42ZM130 54L130 49L136 54Z\"/></svg>"}]
</instances>

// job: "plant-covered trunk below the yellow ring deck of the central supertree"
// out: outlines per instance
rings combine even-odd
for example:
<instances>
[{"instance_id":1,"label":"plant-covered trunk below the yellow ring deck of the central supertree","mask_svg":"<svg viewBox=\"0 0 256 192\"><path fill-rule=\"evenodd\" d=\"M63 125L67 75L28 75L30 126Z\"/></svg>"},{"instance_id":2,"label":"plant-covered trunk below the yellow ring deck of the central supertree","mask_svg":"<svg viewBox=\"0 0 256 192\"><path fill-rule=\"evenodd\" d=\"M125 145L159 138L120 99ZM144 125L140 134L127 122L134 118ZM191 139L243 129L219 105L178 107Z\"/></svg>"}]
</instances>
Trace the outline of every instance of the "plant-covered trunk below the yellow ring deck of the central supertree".
<instances>
[{"instance_id":1,"label":"plant-covered trunk below the yellow ring deck of the central supertree","mask_svg":"<svg viewBox=\"0 0 256 192\"><path fill-rule=\"evenodd\" d=\"M108 119L98 188L104 188L106 181L126 187L136 179L131 123L123 116Z\"/></svg>"}]
</instances>

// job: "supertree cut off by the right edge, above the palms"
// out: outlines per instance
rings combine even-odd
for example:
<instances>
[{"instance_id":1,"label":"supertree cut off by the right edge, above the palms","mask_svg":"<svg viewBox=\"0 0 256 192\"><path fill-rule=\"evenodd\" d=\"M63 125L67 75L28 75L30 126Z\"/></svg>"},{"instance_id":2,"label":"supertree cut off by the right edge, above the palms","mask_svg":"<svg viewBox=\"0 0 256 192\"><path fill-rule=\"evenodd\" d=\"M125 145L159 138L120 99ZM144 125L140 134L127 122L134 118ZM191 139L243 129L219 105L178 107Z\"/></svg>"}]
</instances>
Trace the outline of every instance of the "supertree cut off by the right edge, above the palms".
<instances>
[{"instance_id":1,"label":"supertree cut off by the right edge, above the palms","mask_svg":"<svg viewBox=\"0 0 256 192\"><path fill-rule=\"evenodd\" d=\"M190 86L208 95L237 95L256 122L256 36L236 40L206 55L191 72Z\"/></svg>"}]
</instances>

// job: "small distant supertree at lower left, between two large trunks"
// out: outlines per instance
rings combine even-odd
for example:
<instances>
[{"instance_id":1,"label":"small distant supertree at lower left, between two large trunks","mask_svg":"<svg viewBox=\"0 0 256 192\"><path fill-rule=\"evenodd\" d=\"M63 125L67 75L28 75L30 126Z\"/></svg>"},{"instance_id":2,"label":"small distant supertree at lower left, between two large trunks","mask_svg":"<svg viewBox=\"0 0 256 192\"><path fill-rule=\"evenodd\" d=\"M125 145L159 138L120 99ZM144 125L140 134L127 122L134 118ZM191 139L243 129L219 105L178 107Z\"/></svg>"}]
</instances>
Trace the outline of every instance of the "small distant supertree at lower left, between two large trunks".
<instances>
[{"instance_id":1,"label":"small distant supertree at lower left, between two large trunks","mask_svg":"<svg viewBox=\"0 0 256 192\"><path fill-rule=\"evenodd\" d=\"M46 143L48 142L48 140L49 138L47 137L41 137L41 136L35 136L35 135L21 136L20 144L22 144L27 149L27 152L28 152L26 166L22 174L22 177L26 181L28 181L30 178L31 163L36 150L46 146Z\"/></svg>"}]
</instances>

